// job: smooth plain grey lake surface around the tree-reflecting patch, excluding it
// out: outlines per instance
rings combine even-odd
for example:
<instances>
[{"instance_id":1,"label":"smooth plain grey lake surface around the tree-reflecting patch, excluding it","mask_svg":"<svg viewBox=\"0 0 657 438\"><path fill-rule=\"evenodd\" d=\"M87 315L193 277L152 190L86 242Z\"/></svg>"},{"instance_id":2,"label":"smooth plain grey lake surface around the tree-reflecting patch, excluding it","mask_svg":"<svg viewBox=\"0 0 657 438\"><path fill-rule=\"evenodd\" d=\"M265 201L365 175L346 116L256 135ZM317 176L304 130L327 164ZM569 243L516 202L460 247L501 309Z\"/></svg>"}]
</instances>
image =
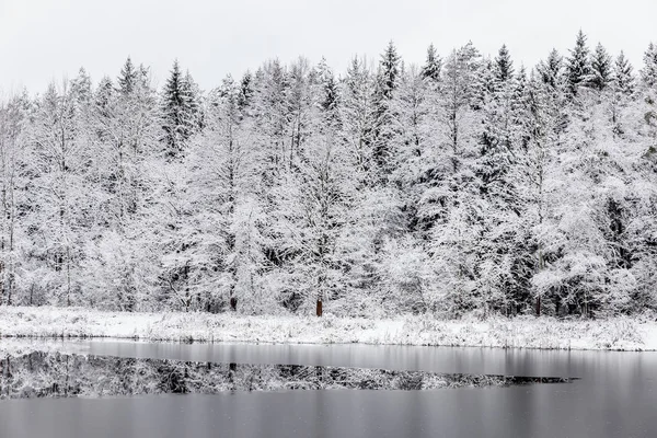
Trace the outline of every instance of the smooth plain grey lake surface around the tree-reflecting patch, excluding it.
<instances>
[{"instance_id":1,"label":"smooth plain grey lake surface around the tree-reflecting patch, excluding it","mask_svg":"<svg viewBox=\"0 0 657 438\"><path fill-rule=\"evenodd\" d=\"M657 353L108 341L56 348L97 357L580 380L429 391L5 400L0 437L657 437Z\"/></svg>"}]
</instances>

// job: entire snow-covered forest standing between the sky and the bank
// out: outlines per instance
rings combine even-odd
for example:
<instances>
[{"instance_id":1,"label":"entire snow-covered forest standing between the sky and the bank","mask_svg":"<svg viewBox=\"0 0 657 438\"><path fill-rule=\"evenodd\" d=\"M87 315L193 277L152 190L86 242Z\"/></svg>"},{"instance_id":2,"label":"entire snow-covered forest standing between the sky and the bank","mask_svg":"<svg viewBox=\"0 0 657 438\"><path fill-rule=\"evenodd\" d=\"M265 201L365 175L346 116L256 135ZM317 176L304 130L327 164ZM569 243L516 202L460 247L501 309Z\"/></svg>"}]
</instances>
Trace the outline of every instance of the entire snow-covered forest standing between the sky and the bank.
<instances>
[{"instance_id":1,"label":"entire snow-covered forest standing between the sky and the bank","mask_svg":"<svg viewBox=\"0 0 657 438\"><path fill-rule=\"evenodd\" d=\"M657 307L657 45L580 32L268 60L200 90L128 58L0 103L0 303L606 316ZM322 304L320 304L320 302Z\"/></svg>"}]
</instances>

